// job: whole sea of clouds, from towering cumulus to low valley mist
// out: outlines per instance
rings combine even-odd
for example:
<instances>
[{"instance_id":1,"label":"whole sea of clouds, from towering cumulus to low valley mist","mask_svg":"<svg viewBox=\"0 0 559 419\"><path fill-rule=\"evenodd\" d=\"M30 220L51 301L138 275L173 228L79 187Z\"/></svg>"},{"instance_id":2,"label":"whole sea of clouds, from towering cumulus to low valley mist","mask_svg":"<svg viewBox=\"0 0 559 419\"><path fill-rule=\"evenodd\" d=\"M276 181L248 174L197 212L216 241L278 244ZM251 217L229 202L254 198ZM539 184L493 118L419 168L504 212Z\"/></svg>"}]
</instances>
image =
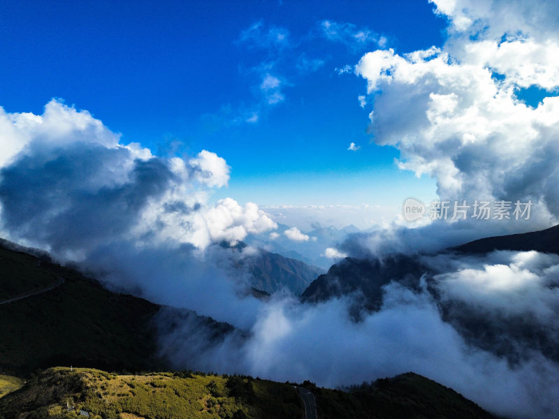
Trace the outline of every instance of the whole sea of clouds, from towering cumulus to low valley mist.
<instances>
[{"instance_id":1,"label":"whole sea of clouds, from towering cumulus to low valley mist","mask_svg":"<svg viewBox=\"0 0 559 419\"><path fill-rule=\"evenodd\" d=\"M382 309L358 323L347 314L350 296L315 305L247 296L226 249L213 244L277 224L254 203L210 204L228 182L226 161L206 150L154 156L59 100L42 115L0 110L1 235L78 262L110 288L244 331L196 346L206 335L183 318L160 339L176 367L328 386L414 371L495 413L558 417L559 364L548 348L558 336L559 257L436 252L556 223L559 5L433 3L449 23L444 45L406 54L383 47L355 66L368 84L372 139L400 150L402 170L435 177L443 200L531 199L538 210L523 223L396 222L340 244L350 256L419 255L431 270L416 272L420 291L385 286ZM527 105L519 97L528 87L547 97ZM472 339L463 313L483 314L484 330L498 331L498 339ZM522 319L539 340L515 335Z\"/></svg>"}]
</instances>

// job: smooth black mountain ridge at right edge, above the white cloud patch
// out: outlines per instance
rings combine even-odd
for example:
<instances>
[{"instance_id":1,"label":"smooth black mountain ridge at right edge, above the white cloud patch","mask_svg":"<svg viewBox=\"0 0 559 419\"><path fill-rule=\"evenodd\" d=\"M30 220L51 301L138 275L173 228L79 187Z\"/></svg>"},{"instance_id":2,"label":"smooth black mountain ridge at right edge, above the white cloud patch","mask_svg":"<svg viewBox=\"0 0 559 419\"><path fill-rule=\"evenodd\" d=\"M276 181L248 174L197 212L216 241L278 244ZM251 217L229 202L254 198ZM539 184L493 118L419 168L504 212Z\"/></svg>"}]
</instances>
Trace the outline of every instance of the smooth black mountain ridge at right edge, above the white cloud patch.
<instances>
[{"instance_id":1,"label":"smooth black mountain ridge at right edge, above the white cloud patch","mask_svg":"<svg viewBox=\"0 0 559 419\"><path fill-rule=\"evenodd\" d=\"M493 250L540 251L559 254L559 225L532 233L486 237L451 250L462 253L488 253Z\"/></svg>"}]
</instances>

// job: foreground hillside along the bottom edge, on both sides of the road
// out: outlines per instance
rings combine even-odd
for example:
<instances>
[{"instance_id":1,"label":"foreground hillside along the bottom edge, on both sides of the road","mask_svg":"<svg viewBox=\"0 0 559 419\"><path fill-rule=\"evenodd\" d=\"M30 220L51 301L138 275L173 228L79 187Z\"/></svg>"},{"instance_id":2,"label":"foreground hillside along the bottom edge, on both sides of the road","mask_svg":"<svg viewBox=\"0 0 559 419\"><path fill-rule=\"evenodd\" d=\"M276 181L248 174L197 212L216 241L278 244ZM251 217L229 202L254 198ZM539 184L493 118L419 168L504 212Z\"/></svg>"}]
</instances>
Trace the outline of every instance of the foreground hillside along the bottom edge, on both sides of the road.
<instances>
[{"instance_id":1,"label":"foreground hillside along the bottom edge, on both sides of the road","mask_svg":"<svg viewBox=\"0 0 559 419\"><path fill-rule=\"evenodd\" d=\"M314 393L321 419L495 419L454 390L413 373L348 391L303 385ZM51 368L31 377L21 390L0 398L0 418L87 415L103 419L304 418L301 399L289 383L192 372L117 375L97 369Z\"/></svg>"}]
</instances>

